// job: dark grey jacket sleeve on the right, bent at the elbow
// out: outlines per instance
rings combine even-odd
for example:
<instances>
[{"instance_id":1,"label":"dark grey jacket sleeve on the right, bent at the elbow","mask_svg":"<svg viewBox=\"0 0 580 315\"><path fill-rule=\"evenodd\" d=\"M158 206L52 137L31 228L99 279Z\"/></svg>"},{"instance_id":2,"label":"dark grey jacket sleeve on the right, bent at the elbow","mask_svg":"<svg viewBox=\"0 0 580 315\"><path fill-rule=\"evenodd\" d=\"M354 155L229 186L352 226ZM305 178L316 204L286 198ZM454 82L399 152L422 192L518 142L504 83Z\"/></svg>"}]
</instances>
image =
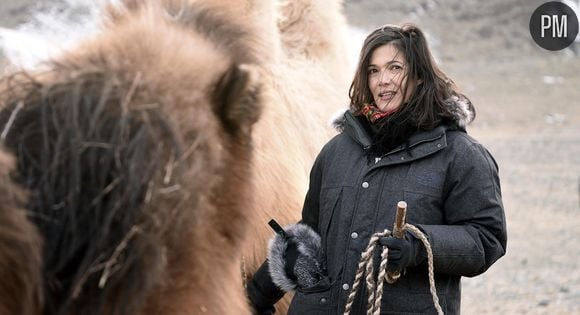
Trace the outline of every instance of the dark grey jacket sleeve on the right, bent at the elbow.
<instances>
[{"instance_id":1,"label":"dark grey jacket sleeve on the right, bent at the elbow","mask_svg":"<svg viewBox=\"0 0 580 315\"><path fill-rule=\"evenodd\" d=\"M445 225L418 225L433 248L435 272L476 276L505 254L507 233L498 166L470 143L451 162L446 178Z\"/></svg>"}]
</instances>

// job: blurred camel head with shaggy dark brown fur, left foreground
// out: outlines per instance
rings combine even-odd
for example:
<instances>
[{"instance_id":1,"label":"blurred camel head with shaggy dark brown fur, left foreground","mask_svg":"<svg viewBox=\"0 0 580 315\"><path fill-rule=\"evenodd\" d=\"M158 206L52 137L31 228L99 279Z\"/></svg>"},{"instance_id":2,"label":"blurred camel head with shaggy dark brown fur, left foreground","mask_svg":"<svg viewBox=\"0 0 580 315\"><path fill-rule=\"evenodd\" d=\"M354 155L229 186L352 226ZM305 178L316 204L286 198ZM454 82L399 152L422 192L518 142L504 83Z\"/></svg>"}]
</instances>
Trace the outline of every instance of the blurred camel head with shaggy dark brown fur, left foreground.
<instances>
[{"instance_id":1,"label":"blurred camel head with shaggy dark brown fur, left foreground","mask_svg":"<svg viewBox=\"0 0 580 315\"><path fill-rule=\"evenodd\" d=\"M232 257L261 110L251 38L219 12L158 10L4 83L0 126L24 104L6 147L45 239L45 314L247 312Z\"/></svg>"}]
</instances>

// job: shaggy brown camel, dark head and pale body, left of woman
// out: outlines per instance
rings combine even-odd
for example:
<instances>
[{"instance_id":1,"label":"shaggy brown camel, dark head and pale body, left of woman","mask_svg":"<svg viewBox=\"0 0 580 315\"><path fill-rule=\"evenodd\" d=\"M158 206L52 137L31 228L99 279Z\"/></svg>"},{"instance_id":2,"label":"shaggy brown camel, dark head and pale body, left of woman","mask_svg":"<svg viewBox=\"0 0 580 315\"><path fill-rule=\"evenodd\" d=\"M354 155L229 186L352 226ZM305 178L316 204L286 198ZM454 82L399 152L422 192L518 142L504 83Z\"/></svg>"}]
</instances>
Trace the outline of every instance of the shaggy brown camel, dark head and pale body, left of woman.
<instances>
[{"instance_id":1,"label":"shaggy brown camel, dark head and pale body, left of woman","mask_svg":"<svg viewBox=\"0 0 580 315\"><path fill-rule=\"evenodd\" d=\"M43 313L246 314L241 257L251 275L266 222L299 218L346 104L342 41L314 45L344 27L340 4L313 24L323 8L296 1L316 10L280 32L288 5L269 0L124 2L46 71L0 83L16 161L0 192L29 193Z\"/></svg>"}]
</instances>

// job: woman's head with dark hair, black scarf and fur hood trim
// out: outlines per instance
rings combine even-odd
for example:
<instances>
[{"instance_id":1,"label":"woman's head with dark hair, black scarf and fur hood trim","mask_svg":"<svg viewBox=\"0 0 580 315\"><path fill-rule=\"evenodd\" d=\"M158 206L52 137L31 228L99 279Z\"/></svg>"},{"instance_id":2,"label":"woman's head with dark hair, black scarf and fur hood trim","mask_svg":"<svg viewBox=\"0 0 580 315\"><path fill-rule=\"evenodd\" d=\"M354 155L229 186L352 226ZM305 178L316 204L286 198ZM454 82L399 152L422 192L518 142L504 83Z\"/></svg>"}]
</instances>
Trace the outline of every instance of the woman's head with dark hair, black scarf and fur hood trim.
<instances>
[{"instance_id":1,"label":"woman's head with dark hair, black scarf and fur hood trim","mask_svg":"<svg viewBox=\"0 0 580 315\"><path fill-rule=\"evenodd\" d=\"M386 25L371 32L350 98L353 113L365 116L376 131L383 130L374 134L369 147L379 156L417 130L452 122L458 114L462 125L475 118L471 102L439 69L424 33L413 25Z\"/></svg>"}]
</instances>

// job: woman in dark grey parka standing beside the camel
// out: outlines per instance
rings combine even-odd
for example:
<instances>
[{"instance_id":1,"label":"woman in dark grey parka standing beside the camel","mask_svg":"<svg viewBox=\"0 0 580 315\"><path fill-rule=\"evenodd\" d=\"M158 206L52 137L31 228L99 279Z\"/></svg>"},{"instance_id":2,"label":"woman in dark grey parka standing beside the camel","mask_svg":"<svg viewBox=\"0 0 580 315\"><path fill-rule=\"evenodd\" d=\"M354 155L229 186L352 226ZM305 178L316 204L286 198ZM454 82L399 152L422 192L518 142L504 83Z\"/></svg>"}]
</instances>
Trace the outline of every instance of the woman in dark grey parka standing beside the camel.
<instances>
[{"instance_id":1,"label":"woman in dark grey parka standing beside the camel","mask_svg":"<svg viewBox=\"0 0 580 315\"><path fill-rule=\"evenodd\" d=\"M432 247L441 307L458 314L461 277L485 272L506 249L498 166L465 131L475 116L471 103L439 70L414 25L386 25L366 38L350 99L342 132L314 163L302 213L302 223L320 236L323 276L314 285L297 284L289 313L341 314L361 252L372 234L392 229L404 200L407 223ZM402 272L385 285L381 314L436 313L422 243L408 232L379 243L389 249L387 270ZM305 253L300 245L282 248L282 270L265 264L249 283L257 313L271 312L283 295L272 276L297 278L296 257ZM351 314L366 313L361 290Z\"/></svg>"}]
</instances>

